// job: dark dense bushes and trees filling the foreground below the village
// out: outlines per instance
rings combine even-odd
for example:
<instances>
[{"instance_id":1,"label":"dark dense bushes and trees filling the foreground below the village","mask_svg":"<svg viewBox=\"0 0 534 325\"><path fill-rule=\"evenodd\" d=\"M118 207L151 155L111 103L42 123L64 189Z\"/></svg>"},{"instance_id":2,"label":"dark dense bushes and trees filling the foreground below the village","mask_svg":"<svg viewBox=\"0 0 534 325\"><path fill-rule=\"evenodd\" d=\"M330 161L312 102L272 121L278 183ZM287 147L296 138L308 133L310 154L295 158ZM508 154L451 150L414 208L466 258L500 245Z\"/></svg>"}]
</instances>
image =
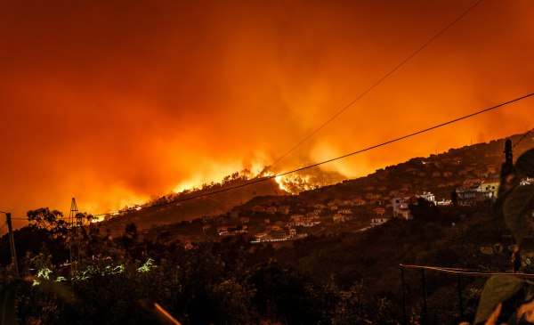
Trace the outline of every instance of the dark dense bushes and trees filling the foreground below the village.
<instances>
[{"instance_id":1,"label":"dark dense bushes and trees filling the foreground below the village","mask_svg":"<svg viewBox=\"0 0 534 325\"><path fill-rule=\"evenodd\" d=\"M155 320L139 301L151 299L183 324L398 323L403 317L400 263L509 268L506 252L489 255L481 249L512 244L490 207L421 203L413 207L412 221L394 220L356 234L310 236L286 248L253 245L244 237L192 248L170 240L168 233L142 240L134 223L112 239L92 223L76 267L62 264L69 258L69 243L61 226L32 223L15 232L22 276L39 275L55 287L25 282L17 314L20 323L150 323ZM0 245L5 286L13 280L5 237ZM414 274L408 278L407 310L417 320L419 284ZM437 323L459 321L450 284L438 274L428 279ZM471 299L466 317L473 317L480 288L481 282L465 280L466 299Z\"/></svg>"}]
</instances>

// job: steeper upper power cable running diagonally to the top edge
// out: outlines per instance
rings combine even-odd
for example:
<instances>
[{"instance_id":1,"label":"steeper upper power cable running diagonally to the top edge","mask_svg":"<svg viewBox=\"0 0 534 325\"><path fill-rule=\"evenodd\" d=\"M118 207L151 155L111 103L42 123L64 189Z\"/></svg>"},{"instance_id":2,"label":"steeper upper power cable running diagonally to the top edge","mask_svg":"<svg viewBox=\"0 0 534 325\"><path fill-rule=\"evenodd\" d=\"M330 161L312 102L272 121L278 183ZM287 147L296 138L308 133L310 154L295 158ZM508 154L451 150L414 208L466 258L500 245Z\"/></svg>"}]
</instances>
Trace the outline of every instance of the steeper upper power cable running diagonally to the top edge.
<instances>
[{"instance_id":1,"label":"steeper upper power cable running diagonally to the top edge","mask_svg":"<svg viewBox=\"0 0 534 325\"><path fill-rule=\"evenodd\" d=\"M311 134L308 134L306 137L303 138L303 140L301 140L300 142L296 143L295 146L293 148L291 148L290 150L288 150L286 153L284 153L281 157L279 157L278 159L276 159L272 164L271 166L267 167L266 169L270 168L270 167L273 167L274 165L278 164L280 160L282 160L283 158L286 158L287 155L289 155L291 152L293 152L293 150L295 150L296 148L300 147L304 142L308 141L310 138L312 138L313 135L317 134L323 127L327 126L328 123L332 122L334 119L336 119L339 115L341 115L345 110L348 110L354 103L360 101L360 99L365 96L367 93L369 93L371 90L373 90L377 85L380 85L387 77L390 77L395 71L397 71L398 69L400 69L406 62L408 62L409 60L411 60L414 56L417 55L417 53L420 53L421 51L423 51L425 49L426 46L430 45L436 38L438 37L441 37L441 35L443 33L445 33L449 28L451 28L454 24L457 23L458 20L461 20L462 18L464 18L464 16L471 12L477 5L481 4L482 0L479 0L477 1L476 3L474 3L471 7L469 7L469 9L467 9L465 12L463 12L461 15L459 15L455 20L452 20L449 25L447 25L445 28L442 28L434 37L432 37L430 40L428 40L424 45L422 45L421 47L419 47L414 53L411 53L409 54L409 56L404 59L403 61L401 61L401 63L397 64L397 66L395 66L391 71L389 71L388 73L386 73L384 75L384 77L381 77L380 79L378 79L373 85L371 85L370 87L367 88L367 90L365 90L363 93L360 93L360 96L358 96L355 100L353 100L352 102L350 102L348 105L346 105L342 110L339 110L336 112L336 114L334 114L334 116L332 116L331 118L329 118L325 123L323 123L322 125L320 125L317 129L315 129L315 131L313 131Z\"/></svg>"}]
</instances>

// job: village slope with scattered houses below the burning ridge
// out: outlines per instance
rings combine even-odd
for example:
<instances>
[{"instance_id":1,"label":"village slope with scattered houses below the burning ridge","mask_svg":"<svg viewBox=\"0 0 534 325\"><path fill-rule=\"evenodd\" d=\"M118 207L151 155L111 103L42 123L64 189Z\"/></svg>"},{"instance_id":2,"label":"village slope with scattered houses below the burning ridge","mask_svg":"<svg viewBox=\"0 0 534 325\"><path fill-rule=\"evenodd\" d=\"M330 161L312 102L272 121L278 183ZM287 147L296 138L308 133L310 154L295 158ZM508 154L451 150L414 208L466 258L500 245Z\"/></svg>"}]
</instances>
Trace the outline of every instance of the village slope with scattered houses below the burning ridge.
<instances>
[{"instance_id":1,"label":"village slope with scattered houses below the burning ridge","mask_svg":"<svg viewBox=\"0 0 534 325\"><path fill-rule=\"evenodd\" d=\"M512 137L514 140L515 137ZM516 157L534 145L524 141ZM197 240L245 235L251 242L298 240L308 235L362 232L392 218L410 220L421 199L435 206L474 206L497 199L505 139L412 158L355 180L293 196L264 196L226 214L162 225L187 247ZM532 179L522 184L533 183Z\"/></svg>"}]
</instances>

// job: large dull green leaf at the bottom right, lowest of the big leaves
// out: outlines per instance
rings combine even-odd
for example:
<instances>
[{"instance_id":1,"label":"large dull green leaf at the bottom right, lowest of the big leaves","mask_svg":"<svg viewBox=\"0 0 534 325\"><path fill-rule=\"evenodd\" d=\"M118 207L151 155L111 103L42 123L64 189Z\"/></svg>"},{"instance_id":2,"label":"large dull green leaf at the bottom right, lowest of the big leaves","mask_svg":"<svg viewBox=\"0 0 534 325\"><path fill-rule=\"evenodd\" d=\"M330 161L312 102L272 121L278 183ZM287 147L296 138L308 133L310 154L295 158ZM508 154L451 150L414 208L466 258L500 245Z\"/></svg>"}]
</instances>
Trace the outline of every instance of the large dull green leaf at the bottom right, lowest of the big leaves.
<instances>
[{"instance_id":1,"label":"large dull green leaf at the bottom right, lowest of the big leaves","mask_svg":"<svg viewBox=\"0 0 534 325\"><path fill-rule=\"evenodd\" d=\"M486 321L498 304L508 300L519 292L524 280L512 275L494 275L482 289L481 301L476 311L474 324Z\"/></svg>"}]
</instances>

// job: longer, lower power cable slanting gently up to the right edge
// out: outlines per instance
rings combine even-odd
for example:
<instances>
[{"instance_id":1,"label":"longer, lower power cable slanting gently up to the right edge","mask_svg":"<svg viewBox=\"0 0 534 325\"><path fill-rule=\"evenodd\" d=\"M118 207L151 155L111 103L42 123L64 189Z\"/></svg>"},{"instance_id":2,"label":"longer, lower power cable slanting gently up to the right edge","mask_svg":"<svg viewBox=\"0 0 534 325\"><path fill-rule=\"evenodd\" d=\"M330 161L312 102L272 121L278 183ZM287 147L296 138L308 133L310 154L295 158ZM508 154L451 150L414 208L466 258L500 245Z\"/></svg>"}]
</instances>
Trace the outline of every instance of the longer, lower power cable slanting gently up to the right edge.
<instances>
[{"instance_id":1,"label":"longer, lower power cable slanting gently up to the right edge","mask_svg":"<svg viewBox=\"0 0 534 325\"><path fill-rule=\"evenodd\" d=\"M305 169L309 169L309 168L313 168L313 167L319 167L320 165L328 164L328 163L330 163L332 161L336 161L336 160L339 160L339 159L342 159L342 158L347 158L347 157L350 157L350 156L353 156L353 155L356 155L356 154L359 154L359 153L362 153L362 152L365 152L365 151L368 151L368 150L373 150L373 149L376 149L376 148L379 148L379 147L383 147L385 145L391 144L392 142L399 142L401 140L407 139L407 138L415 136L417 134L423 134L425 132L431 131L431 130L439 128L441 126L448 126L449 124L456 123L456 122L461 121L461 120L463 120L465 118L473 118L476 115L488 112L490 110L497 110L498 108L504 107L504 106L509 105L511 103L514 103L514 102L522 101L522 100L524 100L526 98L529 98L529 97L531 97L533 95L534 95L534 93L529 93L527 95L515 98L514 100L511 100L511 101L508 101L508 102L503 102L503 103L500 103L498 105L492 106L492 107L490 107L488 109L479 110L479 111L474 112L472 114L465 115L465 116L463 116L461 118L455 118L455 119L452 119L452 120L450 120L448 122L444 122L444 123L441 123L441 124L436 125L436 126L427 127L427 128L425 128L423 130L420 130L420 131L417 131L417 132L414 132L414 133L411 133L411 134L403 135L401 137L392 139L392 140L387 141L387 142L382 142L382 143L376 144L374 146L371 146L371 147L368 147L368 148L365 148L365 149L362 149L362 150L353 151L353 152L348 153L346 155L339 156L339 157L336 157L336 158L331 158L331 159L328 159L328 160L324 160L324 161L321 161L319 163L312 164L312 165L309 165L309 166L306 166L306 167L300 167L300 168L297 168L297 169L294 169L294 170L291 170L291 171L288 171L288 172L284 172L284 173L281 173L281 174L278 174L278 175L265 176L263 178L259 178L259 179L256 179L256 180L253 180L253 181L250 181L250 182L247 182L247 183L239 184L239 185L236 185L236 186L231 186L231 187L228 187L226 189L212 191L212 192L208 192L208 193L205 193L205 194L193 195L193 196L188 197L188 198L175 199L175 200L170 201L170 202L158 203L158 204L152 205L150 207L162 207L162 206L167 206L167 205L174 204L174 203L188 201L190 199L203 198L203 197L206 197L206 196L211 196L211 195L214 195L214 194L222 193L224 191L236 190L236 189L239 189L239 188L242 188L242 187L253 185L255 183L262 183L262 182L269 181L269 180L274 179L274 178L279 177L279 176L284 176L284 175L297 173L297 172L303 171ZM149 207L142 207L142 209L146 209L146 208L149 208ZM116 212L110 212L110 213L102 213L102 214L93 215L93 216L113 215L113 214L117 214L117 213L120 213L120 212L131 212L131 211L136 211L136 210L138 210L138 208L131 208L131 209L123 210L123 211L116 211Z\"/></svg>"}]
</instances>

